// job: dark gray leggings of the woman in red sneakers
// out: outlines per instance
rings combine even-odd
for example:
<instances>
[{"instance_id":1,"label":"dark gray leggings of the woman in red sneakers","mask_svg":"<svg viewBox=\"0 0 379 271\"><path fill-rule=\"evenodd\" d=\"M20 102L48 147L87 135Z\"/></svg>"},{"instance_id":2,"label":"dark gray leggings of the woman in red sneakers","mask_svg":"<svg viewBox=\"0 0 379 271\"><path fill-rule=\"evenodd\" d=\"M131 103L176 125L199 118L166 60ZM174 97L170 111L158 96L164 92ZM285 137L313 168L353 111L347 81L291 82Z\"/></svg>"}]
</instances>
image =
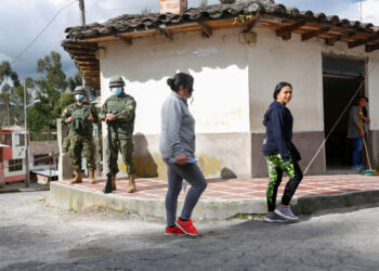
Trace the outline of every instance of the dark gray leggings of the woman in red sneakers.
<instances>
[{"instance_id":1,"label":"dark gray leggings of the woman in red sneakers","mask_svg":"<svg viewBox=\"0 0 379 271\"><path fill-rule=\"evenodd\" d=\"M169 189L166 195L167 224L172 227L175 224L178 196L182 190L183 179L191 183L191 189L187 192L182 215L180 216L184 220L191 219L192 210L206 190L207 182L195 163L181 166L175 163L169 163L168 159L164 160L167 164L167 176L169 179Z\"/></svg>"}]
</instances>

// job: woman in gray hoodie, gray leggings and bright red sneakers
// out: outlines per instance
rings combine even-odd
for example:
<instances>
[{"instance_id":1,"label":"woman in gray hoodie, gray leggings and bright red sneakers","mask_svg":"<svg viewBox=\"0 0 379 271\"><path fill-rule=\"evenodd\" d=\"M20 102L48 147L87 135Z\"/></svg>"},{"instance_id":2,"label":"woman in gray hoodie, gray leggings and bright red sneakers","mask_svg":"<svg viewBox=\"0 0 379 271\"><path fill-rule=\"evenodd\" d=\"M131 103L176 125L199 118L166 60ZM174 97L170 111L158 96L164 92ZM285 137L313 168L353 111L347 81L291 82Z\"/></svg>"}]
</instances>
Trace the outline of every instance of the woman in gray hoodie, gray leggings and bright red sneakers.
<instances>
[{"instance_id":1,"label":"woman in gray hoodie, gray leggings and bright red sneakers","mask_svg":"<svg viewBox=\"0 0 379 271\"><path fill-rule=\"evenodd\" d=\"M194 78L184 73L169 78L172 92L161 108L160 153L167 164L169 188L166 195L166 234L197 235L191 219L206 179L195 158L195 119L188 111L187 99L192 96ZM191 183L181 216L175 221L178 196L183 179Z\"/></svg>"}]
</instances>

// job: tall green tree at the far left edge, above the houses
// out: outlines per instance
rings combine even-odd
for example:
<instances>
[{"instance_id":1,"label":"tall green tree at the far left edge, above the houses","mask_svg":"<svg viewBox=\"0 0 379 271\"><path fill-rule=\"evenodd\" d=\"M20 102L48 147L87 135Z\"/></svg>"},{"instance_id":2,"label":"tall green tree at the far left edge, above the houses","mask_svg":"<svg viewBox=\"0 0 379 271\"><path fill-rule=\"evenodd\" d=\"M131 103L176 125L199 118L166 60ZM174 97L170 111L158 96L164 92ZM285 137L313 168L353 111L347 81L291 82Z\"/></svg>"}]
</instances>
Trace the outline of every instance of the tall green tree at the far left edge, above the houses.
<instances>
[{"instance_id":1,"label":"tall green tree at the far left edge, above the houses","mask_svg":"<svg viewBox=\"0 0 379 271\"><path fill-rule=\"evenodd\" d=\"M0 64L0 102L5 109L5 113L2 114L2 118L0 119L2 125L14 125L16 121L16 117L19 118L21 111L19 111L19 100L16 98L16 89L19 87L19 80L17 73L14 72L11 67L11 64L8 61L3 61ZM16 108L14 111L14 108ZM14 116L12 114L12 111L14 111Z\"/></svg>"}]
</instances>

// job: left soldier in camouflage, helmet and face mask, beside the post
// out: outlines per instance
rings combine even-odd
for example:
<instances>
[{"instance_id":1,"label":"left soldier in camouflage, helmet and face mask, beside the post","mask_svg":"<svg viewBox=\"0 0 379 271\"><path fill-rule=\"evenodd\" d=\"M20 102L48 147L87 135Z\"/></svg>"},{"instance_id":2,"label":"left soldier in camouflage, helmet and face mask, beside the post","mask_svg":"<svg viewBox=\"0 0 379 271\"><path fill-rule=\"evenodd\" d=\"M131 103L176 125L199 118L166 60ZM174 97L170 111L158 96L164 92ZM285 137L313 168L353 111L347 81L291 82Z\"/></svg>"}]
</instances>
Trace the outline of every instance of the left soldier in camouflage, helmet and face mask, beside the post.
<instances>
[{"instance_id":1,"label":"left soldier in camouflage, helmet and face mask, beside the post","mask_svg":"<svg viewBox=\"0 0 379 271\"><path fill-rule=\"evenodd\" d=\"M68 124L69 133L65 150L73 159L75 178L70 184L80 183L81 180L81 152L84 152L90 183L95 183L95 144L92 136L92 124L97 121L97 112L94 105L87 101L84 87L76 87L74 104L68 105L62 114L62 122Z\"/></svg>"}]
</instances>

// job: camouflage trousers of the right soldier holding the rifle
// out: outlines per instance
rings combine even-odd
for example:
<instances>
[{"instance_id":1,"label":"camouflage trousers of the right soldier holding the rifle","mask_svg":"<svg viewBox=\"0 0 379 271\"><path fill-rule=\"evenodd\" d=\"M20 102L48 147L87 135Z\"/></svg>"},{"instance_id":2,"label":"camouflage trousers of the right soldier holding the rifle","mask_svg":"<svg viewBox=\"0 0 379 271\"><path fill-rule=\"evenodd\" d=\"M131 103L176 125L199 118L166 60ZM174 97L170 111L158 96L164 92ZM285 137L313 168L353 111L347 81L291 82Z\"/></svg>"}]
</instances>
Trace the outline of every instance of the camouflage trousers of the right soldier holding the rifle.
<instances>
[{"instance_id":1,"label":"camouflage trousers of the right soldier holding the rifle","mask_svg":"<svg viewBox=\"0 0 379 271\"><path fill-rule=\"evenodd\" d=\"M119 171L117 159L118 152L121 153L122 162L127 166L128 175L135 173L135 166L133 159L133 138L131 134L112 133L112 173L117 175ZM109 160L109 150L106 152L107 160Z\"/></svg>"}]
</instances>

